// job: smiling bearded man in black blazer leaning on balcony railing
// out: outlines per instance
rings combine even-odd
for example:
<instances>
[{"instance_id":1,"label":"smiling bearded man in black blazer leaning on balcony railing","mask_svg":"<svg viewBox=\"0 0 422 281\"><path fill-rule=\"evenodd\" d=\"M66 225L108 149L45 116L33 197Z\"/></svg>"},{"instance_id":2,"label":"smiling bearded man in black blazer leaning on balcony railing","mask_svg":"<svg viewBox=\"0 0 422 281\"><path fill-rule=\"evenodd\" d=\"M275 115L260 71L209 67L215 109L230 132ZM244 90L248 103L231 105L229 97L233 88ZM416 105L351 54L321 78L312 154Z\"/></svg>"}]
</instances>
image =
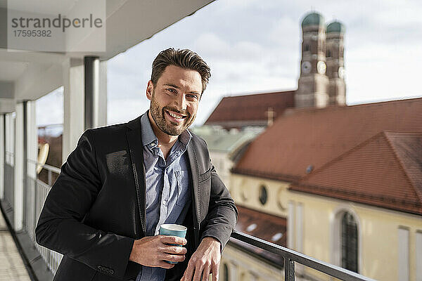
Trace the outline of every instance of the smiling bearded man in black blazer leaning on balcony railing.
<instances>
[{"instance_id":1,"label":"smiling bearded man in black blazer leaning on balcony railing","mask_svg":"<svg viewBox=\"0 0 422 281\"><path fill-rule=\"evenodd\" d=\"M150 109L82 134L35 230L64 255L54 280L218 280L238 211L205 141L188 130L209 78L196 53L162 51ZM158 235L163 223L186 226L186 239Z\"/></svg>"}]
</instances>

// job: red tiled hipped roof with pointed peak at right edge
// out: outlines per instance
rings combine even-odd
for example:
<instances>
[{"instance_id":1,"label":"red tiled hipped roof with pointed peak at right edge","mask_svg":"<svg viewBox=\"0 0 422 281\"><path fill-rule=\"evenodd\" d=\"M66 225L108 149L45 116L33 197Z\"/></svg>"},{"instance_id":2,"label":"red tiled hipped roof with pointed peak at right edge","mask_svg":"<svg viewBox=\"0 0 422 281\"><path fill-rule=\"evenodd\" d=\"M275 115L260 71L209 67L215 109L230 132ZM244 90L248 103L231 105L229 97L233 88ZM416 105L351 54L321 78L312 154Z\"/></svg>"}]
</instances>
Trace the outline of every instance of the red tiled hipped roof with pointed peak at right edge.
<instances>
[{"instance_id":1,"label":"red tiled hipped roof with pointed peak at right edge","mask_svg":"<svg viewBox=\"0 0 422 281\"><path fill-rule=\"evenodd\" d=\"M383 131L290 190L422 214L422 133Z\"/></svg>"}]
</instances>

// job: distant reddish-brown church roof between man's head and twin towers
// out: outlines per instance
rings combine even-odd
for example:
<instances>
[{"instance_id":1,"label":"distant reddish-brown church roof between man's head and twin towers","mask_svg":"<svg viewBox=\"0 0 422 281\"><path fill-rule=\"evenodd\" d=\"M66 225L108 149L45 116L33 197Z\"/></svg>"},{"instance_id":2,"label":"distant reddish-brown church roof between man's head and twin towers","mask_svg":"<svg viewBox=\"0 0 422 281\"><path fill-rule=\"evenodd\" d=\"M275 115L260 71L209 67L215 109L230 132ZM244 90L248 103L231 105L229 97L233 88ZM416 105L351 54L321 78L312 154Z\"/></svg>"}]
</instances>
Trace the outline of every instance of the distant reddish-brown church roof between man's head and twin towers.
<instances>
[{"instance_id":1,"label":"distant reddish-brown church roof between man's head and twin towers","mask_svg":"<svg viewBox=\"0 0 422 281\"><path fill-rule=\"evenodd\" d=\"M269 107L272 107L275 117L281 116L287 107L294 107L294 94L295 91L281 91L224 97L205 121L205 125L226 124L227 122L267 124L266 112Z\"/></svg>"}]
</instances>

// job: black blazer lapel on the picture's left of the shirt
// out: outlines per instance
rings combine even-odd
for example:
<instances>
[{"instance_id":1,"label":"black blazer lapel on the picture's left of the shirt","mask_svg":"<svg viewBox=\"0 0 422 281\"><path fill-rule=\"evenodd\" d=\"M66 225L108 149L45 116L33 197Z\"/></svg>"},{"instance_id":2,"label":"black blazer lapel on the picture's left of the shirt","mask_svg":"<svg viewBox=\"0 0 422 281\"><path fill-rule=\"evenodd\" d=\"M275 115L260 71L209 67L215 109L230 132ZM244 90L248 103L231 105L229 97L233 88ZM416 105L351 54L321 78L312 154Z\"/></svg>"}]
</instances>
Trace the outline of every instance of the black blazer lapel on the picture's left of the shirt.
<instances>
[{"instance_id":1,"label":"black blazer lapel on the picture's left of the shirt","mask_svg":"<svg viewBox=\"0 0 422 281\"><path fill-rule=\"evenodd\" d=\"M146 178L145 166L143 164L143 146L141 139L141 117L127 123L127 143L129 144L130 158L136 186L136 197L138 200L139 216L141 218L141 235L146 236ZM139 235L139 233L136 233Z\"/></svg>"}]
</instances>

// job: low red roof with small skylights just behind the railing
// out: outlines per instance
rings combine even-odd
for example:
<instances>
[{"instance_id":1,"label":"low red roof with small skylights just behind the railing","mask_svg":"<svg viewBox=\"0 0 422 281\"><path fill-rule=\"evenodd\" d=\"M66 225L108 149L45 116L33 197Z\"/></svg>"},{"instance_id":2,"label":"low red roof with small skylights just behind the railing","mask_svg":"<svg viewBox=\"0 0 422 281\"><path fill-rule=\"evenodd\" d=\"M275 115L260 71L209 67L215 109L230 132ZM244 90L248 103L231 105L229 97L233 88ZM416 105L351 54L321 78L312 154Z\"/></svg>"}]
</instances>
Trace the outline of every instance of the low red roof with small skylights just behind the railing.
<instances>
[{"instance_id":1,"label":"low red roof with small skylights just behind the railing","mask_svg":"<svg viewBox=\"0 0 422 281\"><path fill-rule=\"evenodd\" d=\"M239 205L236 205L236 207L238 208L239 212L236 230L286 247L286 218L266 214L261 211L255 211L253 209L241 207ZM281 235L279 233L281 233ZM279 239L272 240L273 238ZM265 261L269 261L274 266L280 266L283 264L283 258L279 255L272 254L267 250L251 246L248 243L238 241L234 238L230 238L230 241L241 249L255 254L255 256L259 256Z\"/></svg>"}]
</instances>

